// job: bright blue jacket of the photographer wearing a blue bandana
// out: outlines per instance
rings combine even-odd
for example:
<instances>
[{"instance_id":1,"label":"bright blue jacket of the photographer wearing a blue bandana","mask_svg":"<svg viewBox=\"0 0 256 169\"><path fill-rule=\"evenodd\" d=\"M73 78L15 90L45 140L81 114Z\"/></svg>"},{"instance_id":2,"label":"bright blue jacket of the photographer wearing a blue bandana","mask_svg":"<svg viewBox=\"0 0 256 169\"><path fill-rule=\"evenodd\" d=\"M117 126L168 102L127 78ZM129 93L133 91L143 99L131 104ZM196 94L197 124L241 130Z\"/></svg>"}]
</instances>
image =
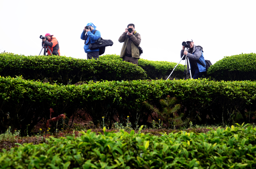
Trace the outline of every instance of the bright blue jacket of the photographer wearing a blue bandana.
<instances>
[{"instance_id":1,"label":"bright blue jacket of the photographer wearing a blue bandana","mask_svg":"<svg viewBox=\"0 0 256 169\"><path fill-rule=\"evenodd\" d=\"M95 31L95 29L93 29L92 31L88 31L87 32L87 40L86 40L86 44L84 45L84 49L85 49L85 53L88 52L95 52L95 51L99 51L100 49L95 49L95 50L90 50L89 49L89 44L95 42L96 40L98 40L100 38L100 31L96 31L95 34L93 34L93 32ZM81 34L81 39L85 40L85 33L86 31L83 31ZM90 43L88 43L90 40Z\"/></svg>"}]
</instances>

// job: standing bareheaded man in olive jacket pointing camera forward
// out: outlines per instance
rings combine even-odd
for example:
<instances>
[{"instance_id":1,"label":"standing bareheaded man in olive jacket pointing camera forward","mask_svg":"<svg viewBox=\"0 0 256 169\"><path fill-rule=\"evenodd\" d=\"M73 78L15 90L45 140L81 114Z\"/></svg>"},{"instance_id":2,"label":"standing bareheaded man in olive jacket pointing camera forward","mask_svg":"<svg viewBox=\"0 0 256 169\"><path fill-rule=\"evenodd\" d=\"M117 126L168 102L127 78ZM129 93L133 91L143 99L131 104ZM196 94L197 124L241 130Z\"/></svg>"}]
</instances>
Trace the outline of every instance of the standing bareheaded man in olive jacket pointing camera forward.
<instances>
[{"instance_id":1,"label":"standing bareheaded man in olive jacket pointing camera forward","mask_svg":"<svg viewBox=\"0 0 256 169\"><path fill-rule=\"evenodd\" d=\"M140 58L139 49L141 37L136 32L134 24L129 24L125 32L119 37L119 42L124 42L121 49L120 58L123 61L131 62L138 66L138 59Z\"/></svg>"}]
</instances>

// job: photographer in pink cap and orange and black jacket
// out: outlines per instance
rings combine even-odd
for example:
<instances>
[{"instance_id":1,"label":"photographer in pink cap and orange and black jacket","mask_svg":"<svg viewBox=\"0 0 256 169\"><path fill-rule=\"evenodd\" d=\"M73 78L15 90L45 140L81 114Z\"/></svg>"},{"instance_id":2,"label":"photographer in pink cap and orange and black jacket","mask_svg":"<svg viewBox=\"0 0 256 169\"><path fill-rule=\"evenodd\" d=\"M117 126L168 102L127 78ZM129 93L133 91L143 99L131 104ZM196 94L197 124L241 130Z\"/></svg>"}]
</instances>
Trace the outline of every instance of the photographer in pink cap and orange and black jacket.
<instances>
[{"instance_id":1,"label":"photographer in pink cap and orange and black jacket","mask_svg":"<svg viewBox=\"0 0 256 169\"><path fill-rule=\"evenodd\" d=\"M60 56L60 47L58 40L53 37L50 33L45 34L45 39L42 39L42 46L45 44L49 47L53 55L59 55ZM46 47L47 48L47 47ZM47 50L48 55L51 55L51 52Z\"/></svg>"}]
</instances>

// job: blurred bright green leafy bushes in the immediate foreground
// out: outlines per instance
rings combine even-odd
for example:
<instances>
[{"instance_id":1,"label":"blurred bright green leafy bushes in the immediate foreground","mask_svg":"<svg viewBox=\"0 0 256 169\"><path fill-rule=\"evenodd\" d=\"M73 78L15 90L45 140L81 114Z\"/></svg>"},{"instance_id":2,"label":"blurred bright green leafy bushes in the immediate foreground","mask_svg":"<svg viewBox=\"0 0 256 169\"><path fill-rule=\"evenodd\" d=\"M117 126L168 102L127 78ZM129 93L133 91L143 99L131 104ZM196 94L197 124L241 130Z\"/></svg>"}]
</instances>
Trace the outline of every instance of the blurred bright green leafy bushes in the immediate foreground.
<instances>
[{"instance_id":1,"label":"blurred bright green leafy bushes in the immediate foreground","mask_svg":"<svg viewBox=\"0 0 256 169\"><path fill-rule=\"evenodd\" d=\"M246 125L245 125L246 126ZM211 130L152 136L132 130L54 138L38 145L3 150L0 167L11 168L255 168L256 128ZM143 126L142 126L143 127ZM141 128L140 128L141 129Z\"/></svg>"}]
</instances>

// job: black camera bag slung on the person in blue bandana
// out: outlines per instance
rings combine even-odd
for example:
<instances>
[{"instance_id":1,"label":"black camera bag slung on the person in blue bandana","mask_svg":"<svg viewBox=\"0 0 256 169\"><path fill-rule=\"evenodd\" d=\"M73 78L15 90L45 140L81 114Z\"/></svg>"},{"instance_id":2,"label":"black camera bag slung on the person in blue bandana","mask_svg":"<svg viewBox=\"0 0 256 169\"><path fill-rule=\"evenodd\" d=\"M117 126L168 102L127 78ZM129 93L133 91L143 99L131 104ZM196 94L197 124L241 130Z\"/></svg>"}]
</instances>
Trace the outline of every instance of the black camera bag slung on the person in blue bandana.
<instances>
[{"instance_id":1,"label":"black camera bag slung on the person in blue bandana","mask_svg":"<svg viewBox=\"0 0 256 169\"><path fill-rule=\"evenodd\" d=\"M97 30L93 31L93 34L95 34ZM90 43L90 40L89 42ZM113 41L112 40L104 40L102 37L96 40L94 43L89 44L89 49L94 50L94 49L100 49L99 50L99 55L104 54L106 46L112 46Z\"/></svg>"}]
</instances>

